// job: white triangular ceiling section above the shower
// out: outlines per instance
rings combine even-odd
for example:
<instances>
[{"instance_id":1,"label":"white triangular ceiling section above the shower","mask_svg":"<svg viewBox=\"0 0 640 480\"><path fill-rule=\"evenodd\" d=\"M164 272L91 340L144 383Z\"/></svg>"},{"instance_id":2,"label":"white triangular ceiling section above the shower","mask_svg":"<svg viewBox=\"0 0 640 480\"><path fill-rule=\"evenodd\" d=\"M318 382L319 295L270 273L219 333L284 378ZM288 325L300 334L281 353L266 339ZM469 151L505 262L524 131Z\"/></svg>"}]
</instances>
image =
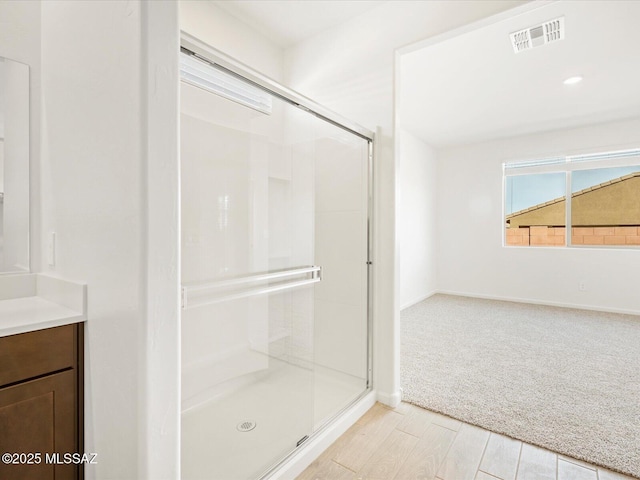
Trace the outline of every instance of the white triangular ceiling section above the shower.
<instances>
[{"instance_id":1,"label":"white triangular ceiling section above the shower","mask_svg":"<svg viewBox=\"0 0 640 480\"><path fill-rule=\"evenodd\" d=\"M279 46L289 47L385 2L212 0L211 3L242 20Z\"/></svg>"}]
</instances>

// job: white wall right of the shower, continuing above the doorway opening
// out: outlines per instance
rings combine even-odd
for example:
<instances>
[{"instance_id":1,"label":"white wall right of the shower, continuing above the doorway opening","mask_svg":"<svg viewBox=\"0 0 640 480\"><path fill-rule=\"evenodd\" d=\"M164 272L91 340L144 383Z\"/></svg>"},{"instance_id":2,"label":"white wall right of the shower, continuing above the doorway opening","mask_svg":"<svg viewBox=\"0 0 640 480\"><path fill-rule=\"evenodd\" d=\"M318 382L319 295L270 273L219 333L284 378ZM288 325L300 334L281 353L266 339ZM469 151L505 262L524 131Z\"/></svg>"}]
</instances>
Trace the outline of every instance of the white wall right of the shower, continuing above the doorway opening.
<instances>
[{"instance_id":1,"label":"white wall right of the shower, continuing above the doorway opening","mask_svg":"<svg viewBox=\"0 0 640 480\"><path fill-rule=\"evenodd\" d=\"M521 3L386 2L285 52L287 86L376 130L374 383L386 403L400 400L394 52Z\"/></svg>"}]
</instances>

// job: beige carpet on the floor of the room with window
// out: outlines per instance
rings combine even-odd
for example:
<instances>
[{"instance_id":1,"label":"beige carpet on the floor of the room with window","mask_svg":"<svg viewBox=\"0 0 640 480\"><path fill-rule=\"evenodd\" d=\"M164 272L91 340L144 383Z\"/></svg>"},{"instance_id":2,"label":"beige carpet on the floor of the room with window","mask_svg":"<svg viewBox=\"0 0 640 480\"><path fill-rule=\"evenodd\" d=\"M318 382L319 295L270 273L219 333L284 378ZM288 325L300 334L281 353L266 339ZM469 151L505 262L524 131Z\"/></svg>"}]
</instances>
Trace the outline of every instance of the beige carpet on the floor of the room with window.
<instances>
[{"instance_id":1,"label":"beige carpet on the floor of the room with window","mask_svg":"<svg viewBox=\"0 0 640 480\"><path fill-rule=\"evenodd\" d=\"M433 297L402 312L403 400L640 478L640 316Z\"/></svg>"}]
</instances>

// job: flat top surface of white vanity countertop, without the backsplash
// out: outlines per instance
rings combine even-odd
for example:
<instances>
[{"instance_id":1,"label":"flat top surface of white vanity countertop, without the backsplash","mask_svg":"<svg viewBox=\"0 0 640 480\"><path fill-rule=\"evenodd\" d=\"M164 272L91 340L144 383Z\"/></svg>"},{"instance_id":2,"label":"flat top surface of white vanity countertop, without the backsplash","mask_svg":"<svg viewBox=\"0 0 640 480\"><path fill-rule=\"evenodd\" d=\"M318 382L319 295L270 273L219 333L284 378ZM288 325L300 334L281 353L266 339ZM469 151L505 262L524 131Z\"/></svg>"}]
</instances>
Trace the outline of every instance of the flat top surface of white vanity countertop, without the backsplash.
<instances>
[{"instance_id":1,"label":"flat top surface of white vanity countertop, without the backsplash","mask_svg":"<svg viewBox=\"0 0 640 480\"><path fill-rule=\"evenodd\" d=\"M80 312L40 297L0 301L0 337L83 322Z\"/></svg>"}]
</instances>

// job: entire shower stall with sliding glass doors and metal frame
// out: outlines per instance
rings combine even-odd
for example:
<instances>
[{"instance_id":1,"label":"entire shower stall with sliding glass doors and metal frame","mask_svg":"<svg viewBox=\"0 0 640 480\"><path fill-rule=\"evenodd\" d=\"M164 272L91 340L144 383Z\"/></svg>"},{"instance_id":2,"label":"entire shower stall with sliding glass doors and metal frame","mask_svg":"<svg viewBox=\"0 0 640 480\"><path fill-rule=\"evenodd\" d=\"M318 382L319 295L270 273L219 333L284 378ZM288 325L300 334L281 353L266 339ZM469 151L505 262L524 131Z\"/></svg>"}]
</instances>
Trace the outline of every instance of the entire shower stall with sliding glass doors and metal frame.
<instances>
[{"instance_id":1,"label":"entire shower stall with sliding glass doors and metal frame","mask_svg":"<svg viewBox=\"0 0 640 480\"><path fill-rule=\"evenodd\" d=\"M372 133L180 55L182 478L256 479L371 388Z\"/></svg>"}]
</instances>

